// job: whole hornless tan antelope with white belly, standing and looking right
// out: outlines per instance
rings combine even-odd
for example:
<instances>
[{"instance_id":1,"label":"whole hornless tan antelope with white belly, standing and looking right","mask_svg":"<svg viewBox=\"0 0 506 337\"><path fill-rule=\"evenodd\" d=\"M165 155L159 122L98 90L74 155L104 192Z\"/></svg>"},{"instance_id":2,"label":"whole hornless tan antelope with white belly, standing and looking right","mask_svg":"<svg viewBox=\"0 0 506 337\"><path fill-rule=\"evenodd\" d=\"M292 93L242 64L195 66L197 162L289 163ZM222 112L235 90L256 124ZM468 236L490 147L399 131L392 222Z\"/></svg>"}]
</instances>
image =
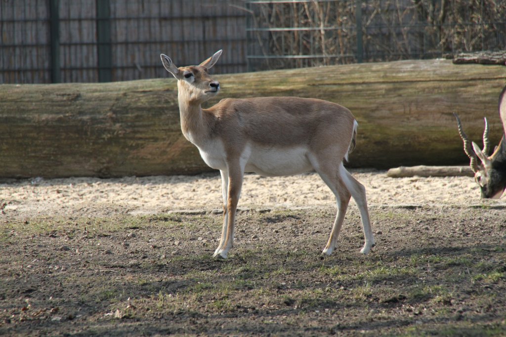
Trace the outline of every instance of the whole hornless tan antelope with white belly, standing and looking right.
<instances>
[{"instance_id":1,"label":"whole hornless tan antelope with white belly, standing and looking right","mask_svg":"<svg viewBox=\"0 0 506 337\"><path fill-rule=\"evenodd\" d=\"M161 54L165 69L178 80L183 135L200 151L210 167L220 170L223 193L223 230L214 257L227 258L234 240L237 202L244 172L287 176L315 170L335 195L338 213L323 254L337 245L350 196L360 210L365 244L374 245L365 188L343 165L355 148L357 122L338 104L299 97L224 99L208 109L201 104L215 97L220 83L208 70L216 52L198 66L176 67Z\"/></svg>"}]
</instances>

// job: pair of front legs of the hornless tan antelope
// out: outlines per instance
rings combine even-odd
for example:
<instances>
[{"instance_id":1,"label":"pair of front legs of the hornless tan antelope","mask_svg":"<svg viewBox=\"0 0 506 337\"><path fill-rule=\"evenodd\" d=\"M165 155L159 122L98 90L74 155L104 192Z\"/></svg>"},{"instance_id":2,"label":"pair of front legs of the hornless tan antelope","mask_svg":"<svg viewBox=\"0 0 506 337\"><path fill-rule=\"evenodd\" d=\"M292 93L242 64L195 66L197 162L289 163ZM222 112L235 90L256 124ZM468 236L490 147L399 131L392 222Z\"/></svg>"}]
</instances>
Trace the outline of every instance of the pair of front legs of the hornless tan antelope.
<instances>
[{"instance_id":1,"label":"pair of front legs of the hornless tan antelope","mask_svg":"<svg viewBox=\"0 0 506 337\"><path fill-rule=\"evenodd\" d=\"M241 194L242 178L244 173L237 168L229 167L228 171L228 193L227 201L224 209L223 216L223 231L220 245L215 251L213 257L226 259L228 251L234 245L234 225L235 225L235 214L237 212L237 203L239 202L239 196ZM222 174L222 179L224 179ZM222 187L225 187L225 183L222 182Z\"/></svg>"}]
</instances>

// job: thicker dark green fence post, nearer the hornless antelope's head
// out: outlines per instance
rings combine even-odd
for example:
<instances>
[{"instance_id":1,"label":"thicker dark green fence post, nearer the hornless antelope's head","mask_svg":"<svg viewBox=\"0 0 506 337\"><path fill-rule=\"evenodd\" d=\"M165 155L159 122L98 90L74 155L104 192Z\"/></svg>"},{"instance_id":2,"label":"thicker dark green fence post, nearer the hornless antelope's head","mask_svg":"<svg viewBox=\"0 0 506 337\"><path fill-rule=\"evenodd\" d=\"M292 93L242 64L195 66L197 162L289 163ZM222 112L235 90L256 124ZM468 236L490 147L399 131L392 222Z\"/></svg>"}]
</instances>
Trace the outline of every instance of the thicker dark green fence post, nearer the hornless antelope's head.
<instances>
[{"instance_id":1,"label":"thicker dark green fence post, nearer the hornless antelope's head","mask_svg":"<svg viewBox=\"0 0 506 337\"><path fill-rule=\"evenodd\" d=\"M97 0L97 54L99 82L112 81L111 9L109 0Z\"/></svg>"}]
</instances>

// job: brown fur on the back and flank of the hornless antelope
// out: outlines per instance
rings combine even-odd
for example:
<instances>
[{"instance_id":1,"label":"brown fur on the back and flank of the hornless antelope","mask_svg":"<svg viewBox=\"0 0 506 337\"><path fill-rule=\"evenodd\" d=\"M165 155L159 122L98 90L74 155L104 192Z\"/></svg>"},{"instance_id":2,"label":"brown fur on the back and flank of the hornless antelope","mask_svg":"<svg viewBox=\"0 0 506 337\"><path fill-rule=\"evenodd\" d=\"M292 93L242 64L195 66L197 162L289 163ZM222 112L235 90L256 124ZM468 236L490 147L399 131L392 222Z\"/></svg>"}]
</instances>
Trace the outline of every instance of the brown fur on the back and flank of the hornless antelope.
<instances>
[{"instance_id":1,"label":"brown fur on the back and flank of the hornless antelope","mask_svg":"<svg viewBox=\"0 0 506 337\"><path fill-rule=\"evenodd\" d=\"M224 99L203 109L202 115L203 123L212 131L207 136L233 145L231 152L241 151L246 142L277 147L304 144L318 150L336 138L350 140L355 120L339 104L299 97ZM187 130L197 129L193 125ZM343 150L348 149L340 152Z\"/></svg>"}]
</instances>

